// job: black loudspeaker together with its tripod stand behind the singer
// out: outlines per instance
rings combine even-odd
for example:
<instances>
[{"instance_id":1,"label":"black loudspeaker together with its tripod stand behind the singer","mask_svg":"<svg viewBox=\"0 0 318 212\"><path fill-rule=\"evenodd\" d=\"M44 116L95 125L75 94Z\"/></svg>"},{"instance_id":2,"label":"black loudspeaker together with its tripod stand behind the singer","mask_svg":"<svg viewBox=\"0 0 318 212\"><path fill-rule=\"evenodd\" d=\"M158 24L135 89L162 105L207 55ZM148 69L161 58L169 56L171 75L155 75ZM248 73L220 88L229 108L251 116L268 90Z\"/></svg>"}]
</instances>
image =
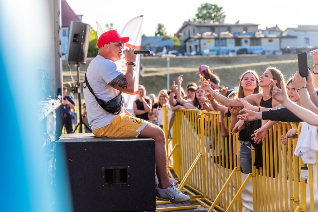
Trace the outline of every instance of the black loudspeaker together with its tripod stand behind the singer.
<instances>
[{"instance_id":1,"label":"black loudspeaker together with its tripod stand behind the singer","mask_svg":"<svg viewBox=\"0 0 318 212\"><path fill-rule=\"evenodd\" d=\"M71 21L70 33L68 37L68 50L67 50L67 65L70 69L69 64L75 64L77 67L77 83L73 82L74 92L78 93L79 100L79 123L77 123L73 133L79 127L79 133L82 133L82 126L85 123L82 122L82 104L81 104L81 88L79 79L79 65L86 64L88 43L89 43L89 31L91 26L82 22ZM71 69L70 69L71 71ZM86 125L87 127L87 125ZM87 127L89 129L89 127Z\"/></svg>"}]
</instances>

